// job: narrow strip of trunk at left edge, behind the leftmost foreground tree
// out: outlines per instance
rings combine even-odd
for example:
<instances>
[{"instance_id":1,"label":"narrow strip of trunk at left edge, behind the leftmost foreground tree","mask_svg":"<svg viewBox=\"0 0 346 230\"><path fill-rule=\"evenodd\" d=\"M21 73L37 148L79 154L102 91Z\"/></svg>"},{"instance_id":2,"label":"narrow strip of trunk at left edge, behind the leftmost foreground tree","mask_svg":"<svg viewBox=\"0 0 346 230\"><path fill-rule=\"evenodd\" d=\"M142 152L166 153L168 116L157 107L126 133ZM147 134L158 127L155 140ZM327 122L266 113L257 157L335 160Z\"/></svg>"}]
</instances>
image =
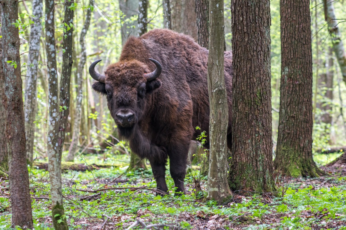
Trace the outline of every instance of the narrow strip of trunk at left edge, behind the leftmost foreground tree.
<instances>
[{"instance_id":1,"label":"narrow strip of trunk at left edge, behind the leftmost foreground tree","mask_svg":"<svg viewBox=\"0 0 346 230\"><path fill-rule=\"evenodd\" d=\"M0 8L1 10L1 8ZM1 12L0 12L1 16ZM0 34L1 36L2 34ZM1 39L0 39L1 41ZM2 46L0 44L0 60L2 60ZM7 146L6 146L6 116L5 109L3 108L4 98L4 72L2 70L2 61L0 61L0 166L5 170L8 170L8 158L7 158Z\"/></svg>"}]
</instances>

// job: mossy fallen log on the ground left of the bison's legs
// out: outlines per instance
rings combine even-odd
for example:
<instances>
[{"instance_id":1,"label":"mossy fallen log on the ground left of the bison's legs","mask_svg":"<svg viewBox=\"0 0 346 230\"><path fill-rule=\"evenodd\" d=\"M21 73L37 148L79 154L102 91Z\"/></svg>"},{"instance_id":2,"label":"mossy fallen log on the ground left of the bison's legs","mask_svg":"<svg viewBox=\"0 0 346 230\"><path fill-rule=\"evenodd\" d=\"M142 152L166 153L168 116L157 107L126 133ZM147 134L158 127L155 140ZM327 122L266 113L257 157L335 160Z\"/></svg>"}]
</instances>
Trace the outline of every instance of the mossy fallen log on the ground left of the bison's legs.
<instances>
[{"instance_id":1,"label":"mossy fallen log on the ground left of the bison's legs","mask_svg":"<svg viewBox=\"0 0 346 230\"><path fill-rule=\"evenodd\" d=\"M34 163L34 166L36 169L44 169L48 171L48 163ZM68 171L68 170L74 170L74 171L80 171L84 172L86 170L91 171L95 169L100 168L110 168L110 167L117 167L112 164L76 164L73 162L62 162L61 163L61 171Z\"/></svg>"}]
</instances>

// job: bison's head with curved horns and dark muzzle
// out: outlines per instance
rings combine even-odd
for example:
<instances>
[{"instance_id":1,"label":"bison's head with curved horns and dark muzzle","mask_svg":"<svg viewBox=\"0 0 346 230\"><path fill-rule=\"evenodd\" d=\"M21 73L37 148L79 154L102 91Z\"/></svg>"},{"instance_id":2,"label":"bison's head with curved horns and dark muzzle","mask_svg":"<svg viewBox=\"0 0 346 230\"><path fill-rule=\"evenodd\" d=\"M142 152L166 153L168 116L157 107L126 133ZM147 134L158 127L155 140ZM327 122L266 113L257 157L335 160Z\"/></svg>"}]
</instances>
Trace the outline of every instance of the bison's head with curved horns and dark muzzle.
<instances>
[{"instance_id":1,"label":"bison's head with curved horns and dark muzzle","mask_svg":"<svg viewBox=\"0 0 346 230\"><path fill-rule=\"evenodd\" d=\"M92 88L107 96L111 116L118 125L120 135L126 138L130 137L146 112L146 97L161 86L156 79L161 74L161 64L154 59L149 60L156 66L153 72L149 72L148 66L137 60L111 64L104 75L94 69L101 60L93 62L89 68L91 77L97 81Z\"/></svg>"}]
</instances>

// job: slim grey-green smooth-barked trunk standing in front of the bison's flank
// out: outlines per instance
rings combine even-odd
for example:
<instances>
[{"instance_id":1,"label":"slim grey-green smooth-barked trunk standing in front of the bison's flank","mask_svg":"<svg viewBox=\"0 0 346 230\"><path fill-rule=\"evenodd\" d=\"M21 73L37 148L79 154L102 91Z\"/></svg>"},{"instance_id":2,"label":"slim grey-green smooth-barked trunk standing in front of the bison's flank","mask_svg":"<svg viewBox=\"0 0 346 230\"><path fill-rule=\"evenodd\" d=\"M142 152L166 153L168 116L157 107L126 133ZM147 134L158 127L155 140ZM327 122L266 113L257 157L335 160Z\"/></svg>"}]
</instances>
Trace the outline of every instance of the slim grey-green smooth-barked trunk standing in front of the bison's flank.
<instances>
[{"instance_id":1,"label":"slim grey-green smooth-barked trunk standing in front of the bison's flank","mask_svg":"<svg viewBox=\"0 0 346 230\"><path fill-rule=\"evenodd\" d=\"M210 0L208 55L209 172L207 199L219 204L232 196L227 181L228 103L224 76L224 0Z\"/></svg>"}]
</instances>

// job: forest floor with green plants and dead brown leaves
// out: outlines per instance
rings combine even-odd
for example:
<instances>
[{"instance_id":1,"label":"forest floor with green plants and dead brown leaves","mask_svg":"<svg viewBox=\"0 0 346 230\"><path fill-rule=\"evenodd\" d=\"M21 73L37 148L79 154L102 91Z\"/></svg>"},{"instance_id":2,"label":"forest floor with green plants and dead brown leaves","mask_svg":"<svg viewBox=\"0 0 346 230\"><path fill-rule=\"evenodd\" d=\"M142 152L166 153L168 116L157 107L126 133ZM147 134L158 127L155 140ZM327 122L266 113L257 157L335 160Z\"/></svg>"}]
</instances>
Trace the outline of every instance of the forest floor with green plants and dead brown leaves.
<instances>
[{"instance_id":1,"label":"forest floor with green plants and dead brown leaves","mask_svg":"<svg viewBox=\"0 0 346 230\"><path fill-rule=\"evenodd\" d=\"M85 159L86 158L86 159ZM127 172L127 156L90 155L77 163L112 163L114 167L92 171L63 172L64 207L70 229L346 229L346 166L324 170L321 178L285 178L285 194L239 196L217 206L213 201L196 199L193 174L185 179L188 195L174 197L173 180L167 171L171 195L155 196L151 170ZM102 159L103 158L103 159ZM107 161L106 161L107 160ZM30 169L31 197L35 229L52 229L48 172ZM120 177L119 177L120 176ZM118 178L119 177L119 178ZM115 182L104 186L113 181ZM77 189L113 190L96 193ZM201 180L206 188L206 178ZM121 189L126 187L128 189ZM132 187L142 189L131 189ZM9 229L11 209L8 181L0 181L0 229ZM136 226L134 224L138 223ZM153 228L154 229L154 228Z\"/></svg>"}]
</instances>

